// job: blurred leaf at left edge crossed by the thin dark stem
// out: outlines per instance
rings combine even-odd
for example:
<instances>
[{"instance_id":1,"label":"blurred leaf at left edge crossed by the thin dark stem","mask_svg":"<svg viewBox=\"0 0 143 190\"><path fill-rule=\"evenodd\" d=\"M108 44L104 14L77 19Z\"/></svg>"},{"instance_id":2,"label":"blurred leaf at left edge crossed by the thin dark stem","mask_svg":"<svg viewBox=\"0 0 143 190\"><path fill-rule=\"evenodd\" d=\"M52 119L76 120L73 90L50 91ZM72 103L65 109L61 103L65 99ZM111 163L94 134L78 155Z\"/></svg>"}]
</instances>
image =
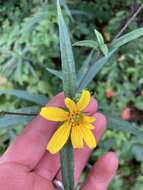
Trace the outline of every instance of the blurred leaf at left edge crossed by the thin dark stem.
<instances>
[{"instance_id":1,"label":"blurred leaf at left edge crossed by the thin dark stem","mask_svg":"<svg viewBox=\"0 0 143 190\"><path fill-rule=\"evenodd\" d=\"M26 107L17 109L16 113L37 113L39 110L38 106ZM24 116L24 115L5 115L0 117L0 128L7 128L15 125L24 125L30 122L34 116Z\"/></svg>"}]
</instances>

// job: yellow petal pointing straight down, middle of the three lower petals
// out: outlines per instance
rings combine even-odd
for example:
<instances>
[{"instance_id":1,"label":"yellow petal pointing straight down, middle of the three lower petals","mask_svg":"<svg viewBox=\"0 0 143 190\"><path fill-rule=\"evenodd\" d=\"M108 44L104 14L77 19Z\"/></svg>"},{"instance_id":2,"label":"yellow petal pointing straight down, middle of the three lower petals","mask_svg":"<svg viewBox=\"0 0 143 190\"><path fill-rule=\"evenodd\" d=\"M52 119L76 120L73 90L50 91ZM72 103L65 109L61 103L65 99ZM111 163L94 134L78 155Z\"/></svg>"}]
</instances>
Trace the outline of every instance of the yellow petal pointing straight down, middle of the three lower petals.
<instances>
[{"instance_id":1,"label":"yellow petal pointing straight down, middle of the three lower petals","mask_svg":"<svg viewBox=\"0 0 143 190\"><path fill-rule=\"evenodd\" d=\"M78 126L72 127L71 142L74 148L83 148L83 138Z\"/></svg>"}]
</instances>

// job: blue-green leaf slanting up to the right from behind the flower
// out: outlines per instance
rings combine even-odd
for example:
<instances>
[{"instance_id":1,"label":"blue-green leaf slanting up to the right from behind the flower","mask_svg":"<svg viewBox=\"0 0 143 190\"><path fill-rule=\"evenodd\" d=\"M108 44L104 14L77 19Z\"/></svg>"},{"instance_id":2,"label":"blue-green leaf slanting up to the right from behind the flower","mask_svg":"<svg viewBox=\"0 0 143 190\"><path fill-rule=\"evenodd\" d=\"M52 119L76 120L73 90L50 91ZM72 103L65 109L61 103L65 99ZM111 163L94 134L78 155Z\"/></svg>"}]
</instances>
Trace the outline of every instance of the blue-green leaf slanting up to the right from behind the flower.
<instances>
[{"instance_id":1,"label":"blue-green leaf slanting up to the right from behind the flower","mask_svg":"<svg viewBox=\"0 0 143 190\"><path fill-rule=\"evenodd\" d=\"M100 58L97 60L97 62L93 63L90 68L88 69L87 73L83 77L78 89L82 90L87 87L87 85L93 80L93 78L96 76L96 74L100 71L100 69L108 63L109 59L112 57L112 55L116 52L116 49L109 52L106 56Z\"/></svg>"}]
</instances>

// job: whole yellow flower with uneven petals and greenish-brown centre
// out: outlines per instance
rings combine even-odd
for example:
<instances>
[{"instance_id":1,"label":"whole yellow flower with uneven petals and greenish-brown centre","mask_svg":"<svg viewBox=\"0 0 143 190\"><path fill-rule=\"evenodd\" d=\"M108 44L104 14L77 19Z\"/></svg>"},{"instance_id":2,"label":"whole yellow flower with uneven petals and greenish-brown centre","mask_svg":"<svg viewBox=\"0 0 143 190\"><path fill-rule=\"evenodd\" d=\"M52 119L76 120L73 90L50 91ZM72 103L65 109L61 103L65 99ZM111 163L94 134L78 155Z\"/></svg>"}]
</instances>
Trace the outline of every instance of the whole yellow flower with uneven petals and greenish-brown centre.
<instances>
[{"instance_id":1,"label":"whole yellow flower with uneven petals and greenish-brown centre","mask_svg":"<svg viewBox=\"0 0 143 190\"><path fill-rule=\"evenodd\" d=\"M63 122L48 143L47 150L52 154L57 153L69 137L71 137L74 148L83 148L84 142L91 149L96 147L96 139L91 131L95 128L92 125L95 118L86 116L83 112L89 102L90 93L84 90L77 103L70 98L65 98L68 111L58 107L43 107L41 109L40 115L45 119Z\"/></svg>"}]
</instances>

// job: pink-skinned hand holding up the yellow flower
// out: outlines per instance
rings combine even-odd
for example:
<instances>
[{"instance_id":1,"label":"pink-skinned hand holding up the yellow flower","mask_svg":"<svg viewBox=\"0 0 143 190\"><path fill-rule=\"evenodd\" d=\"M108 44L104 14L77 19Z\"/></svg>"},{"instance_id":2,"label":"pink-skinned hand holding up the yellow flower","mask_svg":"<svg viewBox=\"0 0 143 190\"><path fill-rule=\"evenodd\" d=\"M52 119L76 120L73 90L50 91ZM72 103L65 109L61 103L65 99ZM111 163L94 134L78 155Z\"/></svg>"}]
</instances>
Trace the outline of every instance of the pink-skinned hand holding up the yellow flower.
<instances>
[{"instance_id":1,"label":"pink-skinned hand holding up the yellow flower","mask_svg":"<svg viewBox=\"0 0 143 190\"><path fill-rule=\"evenodd\" d=\"M63 93L55 96L50 106L65 107ZM94 135L99 142L105 128L106 118L97 111L97 102L91 98L84 110L96 118ZM55 190L53 179L61 179L59 154L46 151L47 142L57 128L57 123L37 116L9 146L0 159L0 189L3 190ZM91 154L86 146L76 149L75 183ZM106 190L118 167L115 153L108 152L94 164L85 180L82 190Z\"/></svg>"}]
</instances>

